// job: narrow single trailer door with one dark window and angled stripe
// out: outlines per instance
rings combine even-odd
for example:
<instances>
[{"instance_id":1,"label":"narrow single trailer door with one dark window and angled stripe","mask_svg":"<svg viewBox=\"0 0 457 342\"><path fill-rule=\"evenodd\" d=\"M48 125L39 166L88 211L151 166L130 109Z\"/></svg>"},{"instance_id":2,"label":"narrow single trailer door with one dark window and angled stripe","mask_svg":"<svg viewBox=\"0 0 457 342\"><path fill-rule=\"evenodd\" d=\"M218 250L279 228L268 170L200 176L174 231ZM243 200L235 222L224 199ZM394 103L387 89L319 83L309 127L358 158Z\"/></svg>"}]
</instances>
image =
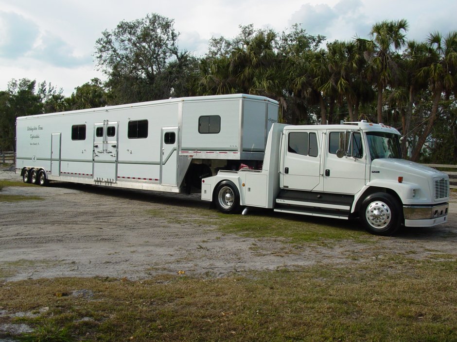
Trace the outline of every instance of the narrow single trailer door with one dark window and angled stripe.
<instances>
[{"instance_id":1,"label":"narrow single trailer door with one dark window and angled stripe","mask_svg":"<svg viewBox=\"0 0 457 342\"><path fill-rule=\"evenodd\" d=\"M160 143L160 183L177 185L178 172L178 132L177 127L162 128Z\"/></svg>"}]
</instances>

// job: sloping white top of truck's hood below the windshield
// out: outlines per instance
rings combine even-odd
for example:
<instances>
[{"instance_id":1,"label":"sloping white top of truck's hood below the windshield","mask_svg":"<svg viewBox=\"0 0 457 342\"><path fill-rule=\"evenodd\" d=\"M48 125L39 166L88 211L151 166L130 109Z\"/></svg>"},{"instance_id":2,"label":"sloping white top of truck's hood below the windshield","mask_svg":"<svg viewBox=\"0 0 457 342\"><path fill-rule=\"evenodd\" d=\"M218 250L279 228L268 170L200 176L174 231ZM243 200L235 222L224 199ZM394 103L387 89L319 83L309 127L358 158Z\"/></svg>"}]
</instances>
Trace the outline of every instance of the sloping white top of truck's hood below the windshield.
<instances>
[{"instance_id":1,"label":"sloping white top of truck's hood below the windshield","mask_svg":"<svg viewBox=\"0 0 457 342\"><path fill-rule=\"evenodd\" d=\"M383 171L389 170L389 173L393 173L398 176L406 176L409 175L416 175L419 177L444 177L448 178L448 175L445 173L433 169L428 166L423 166L418 163L410 162L404 159L387 159L387 158L379 158L375 159L371 162L371 175L376 174L376 171L380 171L382 174ZM375 172L373 172L375 171Z\"/></svg>"}]
</instances>

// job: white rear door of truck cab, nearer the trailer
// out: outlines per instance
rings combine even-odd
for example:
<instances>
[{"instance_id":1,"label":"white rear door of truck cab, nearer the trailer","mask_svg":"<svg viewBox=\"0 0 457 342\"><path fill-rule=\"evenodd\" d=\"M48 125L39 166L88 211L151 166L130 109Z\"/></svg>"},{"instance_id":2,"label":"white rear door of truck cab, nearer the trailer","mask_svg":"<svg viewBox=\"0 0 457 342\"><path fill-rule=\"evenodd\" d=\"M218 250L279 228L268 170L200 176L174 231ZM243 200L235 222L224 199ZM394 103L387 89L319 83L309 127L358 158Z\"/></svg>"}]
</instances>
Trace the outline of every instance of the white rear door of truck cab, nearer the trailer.
<instances>
[{"instance_id":1,"label":"white rear door of truck cab, nearer the trailer","mask_svg":"<svg viewBox=\"0 0 457 342\"><path fill-rule=\"evenodd\" d=\"M319 132L285 131L281 163L281 187L293 190L322 191Z\"/></svg>"}]
</instances>

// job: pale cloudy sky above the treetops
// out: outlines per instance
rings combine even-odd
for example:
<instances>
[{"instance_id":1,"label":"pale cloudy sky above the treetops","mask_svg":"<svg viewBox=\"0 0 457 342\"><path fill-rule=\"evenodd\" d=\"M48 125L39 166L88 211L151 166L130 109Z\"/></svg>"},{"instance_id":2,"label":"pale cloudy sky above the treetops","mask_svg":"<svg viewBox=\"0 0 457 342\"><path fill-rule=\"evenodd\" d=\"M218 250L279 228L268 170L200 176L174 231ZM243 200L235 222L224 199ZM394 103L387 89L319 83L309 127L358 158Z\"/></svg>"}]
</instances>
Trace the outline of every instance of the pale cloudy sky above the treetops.
<instances>
[{"instance_id":1,"label":"pale cloudy sky above the treetops","mask_svg":"<svg viewBox=\"0 0 457 342\"><path fill-rule=\"evenodd\" d=\"M92 56L95 41L147 13L174 19L179 48L197 57L212 36L233 38L248 24L282 32L299 23L327 41L368 38L375 22L403 18L408 39L457 30L456 0L0 0L0 90L28 78L70 96L95 77L104 80Z\"/></svg>"}]
</instances>

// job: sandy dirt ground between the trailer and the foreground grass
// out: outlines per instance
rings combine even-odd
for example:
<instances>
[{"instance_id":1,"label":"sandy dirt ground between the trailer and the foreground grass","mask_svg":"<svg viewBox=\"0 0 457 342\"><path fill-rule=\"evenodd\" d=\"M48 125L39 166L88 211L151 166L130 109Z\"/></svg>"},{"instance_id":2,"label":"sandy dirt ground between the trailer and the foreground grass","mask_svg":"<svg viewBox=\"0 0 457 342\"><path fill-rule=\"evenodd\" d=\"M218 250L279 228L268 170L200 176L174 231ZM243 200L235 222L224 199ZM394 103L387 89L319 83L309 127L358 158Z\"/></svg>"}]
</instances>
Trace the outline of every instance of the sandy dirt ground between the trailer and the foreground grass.
<instances>
[{"instance_id":1,"label":"sandy dirt ground between the trailer and the foreground grass","mask_svg":"<svg viewBox=\"0 0 457 342\"><path fill-rule=\"evenodd\" d=\"M0 179L20 180L20 176L1 171ZM455 195L448 222L438 227L408 228L395 237L369 235L369 244L348 240L322 246L223 234L208 220L199 222L199 212L208 203L198 195L63 182L52 182L49 187L5 187L2 193L43 198L0 204L0 277L5 280L141 279L178 272L222 277L322 262L370 262L388 253L417 259L457 256ZM163 211L176 220L163 218L159 214ZM314 220L298 216L297 224L306 229Z\"/></svg>"}]
</instances>

